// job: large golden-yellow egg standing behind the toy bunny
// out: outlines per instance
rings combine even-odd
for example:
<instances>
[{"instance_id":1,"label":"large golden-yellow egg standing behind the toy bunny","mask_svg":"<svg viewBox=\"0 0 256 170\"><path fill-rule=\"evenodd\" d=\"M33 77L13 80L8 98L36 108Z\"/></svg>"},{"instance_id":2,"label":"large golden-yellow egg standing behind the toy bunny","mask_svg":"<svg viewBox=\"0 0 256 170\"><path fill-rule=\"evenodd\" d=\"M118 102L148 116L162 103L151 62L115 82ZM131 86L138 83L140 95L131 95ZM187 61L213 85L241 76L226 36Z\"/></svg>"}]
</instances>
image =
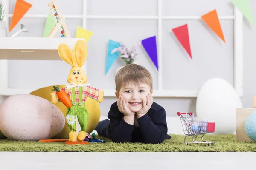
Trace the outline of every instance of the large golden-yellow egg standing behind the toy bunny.
<instances>
[{"instance_id":1,"label":"large golden-yellow egg standing behind the toy bunny","mask_svg":"<svg viewBox=\"0 0 256 170\"><path fill-rule=\"evenodd\" d=\"M65 85L59 85L59 88L63 88L63 87L65 87ZM50 94L53 92L51 91L51 89L53 89L53 87L48 86L48 87L44 87L44 88L40 88L35 91L32 91L30 94L35 96L40 96L44 99L51 101ZM67 107L62 102L58 102L56 106L62 111L62 113L66 117ZM97 102L94 99L91 99L90 97L87 97L85 101L85 108L89 112L89 122L88 122L86 133L90 134L99 123L99 118L101 115L99 102ZM65 121L65 126L63 130L60 133L58 133L58 135L54 136L53 139L68 139L69 132L70 132L70 128L67 126L67 122Z\"/></svg>"}]
</instances>

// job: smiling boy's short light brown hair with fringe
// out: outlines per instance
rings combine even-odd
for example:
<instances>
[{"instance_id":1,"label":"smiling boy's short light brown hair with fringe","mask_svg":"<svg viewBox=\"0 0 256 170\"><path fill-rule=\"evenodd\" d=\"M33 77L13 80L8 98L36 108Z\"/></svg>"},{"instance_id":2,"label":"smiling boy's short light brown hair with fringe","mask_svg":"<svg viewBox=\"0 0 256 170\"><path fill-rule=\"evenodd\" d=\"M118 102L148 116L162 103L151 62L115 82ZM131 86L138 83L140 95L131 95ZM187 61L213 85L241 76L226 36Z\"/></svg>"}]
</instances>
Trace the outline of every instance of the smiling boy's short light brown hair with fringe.
<instances>
[{"instance_id":1,"label":"smiling boy's short light brown hair with fringe","mask_svg":"<svg viewBox=\"0 0 256 170\"><path fill-rule=\"evenodd\" d=\"M133 83L139 86L140 83L146 84L150 87L150 91L153 88L153 80L149 71L137 64L128 64L121 68L115 77L116 91L119 93L121 87L128 83Z\"/></svg>"}]
</instances>

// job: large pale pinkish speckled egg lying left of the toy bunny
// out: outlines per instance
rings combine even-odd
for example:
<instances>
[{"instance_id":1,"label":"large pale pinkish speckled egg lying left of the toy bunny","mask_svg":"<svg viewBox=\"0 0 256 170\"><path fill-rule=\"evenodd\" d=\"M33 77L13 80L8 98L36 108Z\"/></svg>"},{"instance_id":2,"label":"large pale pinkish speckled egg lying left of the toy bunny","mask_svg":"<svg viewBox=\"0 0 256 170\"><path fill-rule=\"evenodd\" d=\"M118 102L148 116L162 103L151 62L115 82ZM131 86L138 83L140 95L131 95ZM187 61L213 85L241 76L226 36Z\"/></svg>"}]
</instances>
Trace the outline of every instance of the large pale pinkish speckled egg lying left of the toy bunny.
<instances>
[{"instance_id":1,"label":"large pale pinkish speckled egg lying left of the toy bunny","mask_svg":"<svg viewBox=\"0 0 256 170\"><path fill-rule=\"evenodd\" d=\"M49 139L64 128L61 110L47 99L31 94L8 97L0 106L0 130L12 140Z\"/></svg>"}]
</instances>

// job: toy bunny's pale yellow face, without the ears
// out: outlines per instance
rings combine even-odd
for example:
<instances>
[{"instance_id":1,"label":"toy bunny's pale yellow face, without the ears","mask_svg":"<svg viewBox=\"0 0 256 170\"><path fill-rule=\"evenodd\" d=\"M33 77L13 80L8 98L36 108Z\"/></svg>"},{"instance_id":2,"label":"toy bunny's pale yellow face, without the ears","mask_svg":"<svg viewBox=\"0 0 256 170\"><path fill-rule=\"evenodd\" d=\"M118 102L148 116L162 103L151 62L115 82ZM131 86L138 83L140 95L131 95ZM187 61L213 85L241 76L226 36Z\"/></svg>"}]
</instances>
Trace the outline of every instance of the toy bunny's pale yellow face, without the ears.
<instances>
[{"instance_id":1,"label":"toy bunny's pale yellow face, without the ears","mask_svg":"<svg viewBox=\"0 0 256 170\"><path fill-rule=\"evenodd\" d=\"M67 77L68 83L84 84L87 81L87 76L80 67L73 67Z\"/></svg>"}]
</instances>

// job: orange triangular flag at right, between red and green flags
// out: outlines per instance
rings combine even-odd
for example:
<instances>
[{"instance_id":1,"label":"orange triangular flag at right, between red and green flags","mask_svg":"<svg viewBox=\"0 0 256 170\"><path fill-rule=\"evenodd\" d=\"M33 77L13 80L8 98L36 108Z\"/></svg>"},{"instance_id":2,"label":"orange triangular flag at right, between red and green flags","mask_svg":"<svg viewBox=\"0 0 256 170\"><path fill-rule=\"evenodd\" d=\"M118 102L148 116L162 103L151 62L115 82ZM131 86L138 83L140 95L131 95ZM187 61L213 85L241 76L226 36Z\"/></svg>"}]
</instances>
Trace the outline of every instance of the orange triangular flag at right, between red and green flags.
<instances>
[{"instance_id":1,"label":"orange triangular flag at right, between red and green flags","mask_svg":"<svg viewBox=\"0 0 256 170\"><path fill-rule=\"evenodd\" d=\"M202 15L201 18L226 43L216 9Z\"/></svg>"}]
</instances>

